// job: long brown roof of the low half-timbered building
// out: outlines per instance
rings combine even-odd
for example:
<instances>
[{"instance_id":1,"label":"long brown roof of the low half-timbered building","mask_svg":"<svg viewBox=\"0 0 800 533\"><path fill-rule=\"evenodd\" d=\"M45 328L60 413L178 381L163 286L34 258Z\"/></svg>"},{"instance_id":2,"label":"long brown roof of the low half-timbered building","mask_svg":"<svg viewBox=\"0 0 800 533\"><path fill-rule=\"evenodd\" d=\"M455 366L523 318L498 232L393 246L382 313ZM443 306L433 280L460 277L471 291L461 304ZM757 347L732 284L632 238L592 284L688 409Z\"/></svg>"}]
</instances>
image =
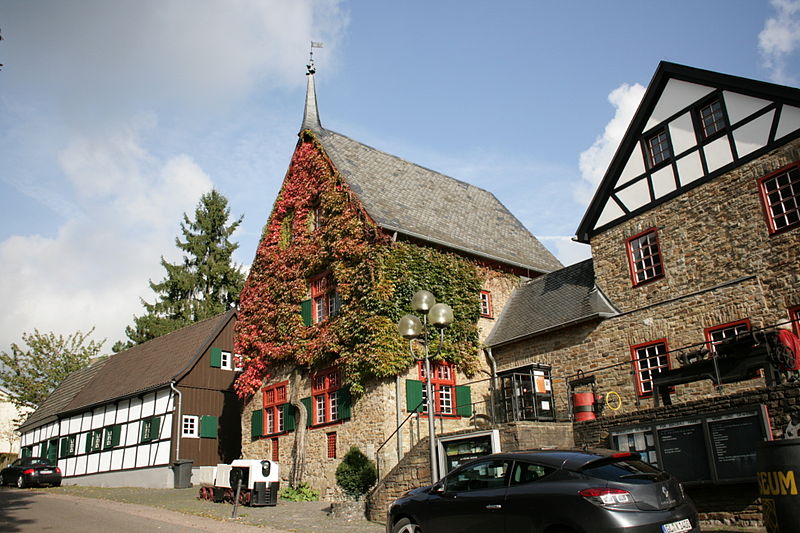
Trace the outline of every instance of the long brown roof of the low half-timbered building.
<instances>
[{"instance_id":1,"label":"long brown roof of the low half-timbered building","mask_svg":"<svg viewBox=\"0 0 800 533\"><path fill-rule=\"evenodd\" d=\"M235 315L231 310L191 324L73 372L19 429L180 380Z\"/></svg>"}]
</instances>

